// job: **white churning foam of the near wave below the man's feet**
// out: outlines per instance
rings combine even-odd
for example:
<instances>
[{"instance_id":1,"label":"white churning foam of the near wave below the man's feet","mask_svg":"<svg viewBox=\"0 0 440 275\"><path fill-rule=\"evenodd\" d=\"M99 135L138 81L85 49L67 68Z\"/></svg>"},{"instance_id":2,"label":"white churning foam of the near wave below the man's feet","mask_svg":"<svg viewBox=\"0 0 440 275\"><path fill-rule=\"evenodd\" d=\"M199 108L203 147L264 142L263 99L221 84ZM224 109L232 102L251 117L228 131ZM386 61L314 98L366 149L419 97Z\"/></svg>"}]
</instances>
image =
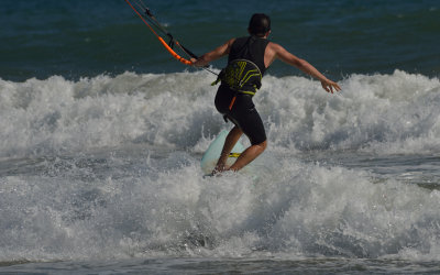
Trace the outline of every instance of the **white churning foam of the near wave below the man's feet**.
<instances>
[{"instance_id":1,"label":"white churning foam of the near wave below the man's feet","mask_svg":"<svg viewBox=\"0 0 440 275\"><path fill-rule=\"evenodd\" d=\"M271 162L273 154L256 166L256 179L246 173L204 179L198 162L185 153L163 158L156 164L162 170L145 166L144 157L128 169L125 157L107 158L111 169L103 172L94 170L97 163L86 168L73 158L46 161L52 175L2 177L0 261L163 255L440 261L437 190L376 182L363 170Z\"/></svg>"}]
</instances>

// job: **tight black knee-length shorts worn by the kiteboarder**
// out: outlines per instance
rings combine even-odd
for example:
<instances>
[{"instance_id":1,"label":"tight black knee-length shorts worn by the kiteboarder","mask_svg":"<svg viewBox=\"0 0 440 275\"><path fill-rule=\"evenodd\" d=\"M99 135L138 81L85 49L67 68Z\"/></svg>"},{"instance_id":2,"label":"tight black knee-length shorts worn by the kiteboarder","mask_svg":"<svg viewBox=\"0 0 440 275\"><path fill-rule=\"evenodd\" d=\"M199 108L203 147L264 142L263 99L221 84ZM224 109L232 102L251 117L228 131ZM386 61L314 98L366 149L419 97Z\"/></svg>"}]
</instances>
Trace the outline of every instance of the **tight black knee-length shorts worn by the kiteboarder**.
<instances>
[{"instance_id":1,"label":"tight black knee-length shorts worn by the kiteboarder","mask_svg":"<svg viewBox=\"0 0 440 275\"><path fill-rule=\"evenodd\" d=\"M232 109L229 110L232 98L237 95ZM251 141L252 145L266 141L263 121L255 109L252 96L237 94L226 85L220 85L216 95L217 110L227 116L238 128L240 128Z\"/></svg>"}]
</instances>

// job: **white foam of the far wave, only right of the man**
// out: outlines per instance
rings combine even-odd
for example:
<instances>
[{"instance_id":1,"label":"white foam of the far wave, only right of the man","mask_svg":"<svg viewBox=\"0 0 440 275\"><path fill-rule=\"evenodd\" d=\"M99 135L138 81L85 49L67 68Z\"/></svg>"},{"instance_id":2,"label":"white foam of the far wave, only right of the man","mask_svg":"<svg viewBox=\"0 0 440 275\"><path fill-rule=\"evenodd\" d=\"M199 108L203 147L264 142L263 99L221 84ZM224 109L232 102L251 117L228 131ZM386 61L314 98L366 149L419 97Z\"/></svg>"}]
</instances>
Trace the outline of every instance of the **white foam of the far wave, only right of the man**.
<instances>
[{"instance_id":1,"label":"white foam of the far wave, only right of the man","mask_svg":"<svg viewBox=\"0 0 440 275\"><path fill-rule=\"evenodd\" d=\"M337 96L305 78L270 78L260 95L270 139L295 148L374 153L439 148L440 82L396 70L352 75ZM268 86L268 87L267 87Z\"/></svg>"}]
</instances>

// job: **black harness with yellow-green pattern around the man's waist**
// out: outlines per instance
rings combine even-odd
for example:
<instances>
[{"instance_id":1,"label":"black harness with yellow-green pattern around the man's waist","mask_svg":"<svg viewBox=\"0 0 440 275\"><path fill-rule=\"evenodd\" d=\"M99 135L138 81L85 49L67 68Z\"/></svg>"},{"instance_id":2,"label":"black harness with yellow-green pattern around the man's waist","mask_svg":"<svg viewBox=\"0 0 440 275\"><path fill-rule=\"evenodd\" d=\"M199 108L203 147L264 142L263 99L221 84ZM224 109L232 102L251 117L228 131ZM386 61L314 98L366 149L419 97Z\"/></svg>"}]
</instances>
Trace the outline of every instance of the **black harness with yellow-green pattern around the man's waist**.
<instances>
[{"instance_id":1,"label":"black harness with yellow-green pattern around the man's waist","mask_svg":"<svg viewBox=\"0 0 440 275\"><path fill-rule=\"evenodd\" d=\"M227 85L231 90L235 91L229 105L229 110L232 110L237 96L244 94L253 97L262 86L262 78L263 75L255 63L248 59L234 59L220 72L219 77L211 85L215 86L221 81L222 85Z\"/></svg>"}]
</instances>

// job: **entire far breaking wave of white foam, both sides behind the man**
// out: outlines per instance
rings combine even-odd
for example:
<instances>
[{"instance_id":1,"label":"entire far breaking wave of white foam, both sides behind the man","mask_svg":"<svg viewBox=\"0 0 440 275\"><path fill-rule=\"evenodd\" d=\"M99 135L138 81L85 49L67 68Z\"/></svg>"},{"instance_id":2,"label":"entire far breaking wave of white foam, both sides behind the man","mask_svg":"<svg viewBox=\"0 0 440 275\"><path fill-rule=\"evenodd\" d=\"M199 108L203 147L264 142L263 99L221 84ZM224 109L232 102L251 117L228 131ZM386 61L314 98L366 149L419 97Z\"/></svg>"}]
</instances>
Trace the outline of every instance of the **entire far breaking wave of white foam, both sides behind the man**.
<instances>
[{"instance_id":1,"label":"entire far breaking wave of white foam, both sides behind the man","mask_svg":"<svg viewBox=\"0 0 440 275\"><path fill-rule=\"evenodd\" d=\"M197 146L222 122L206 73L0 80L0 155L127 143ZM302 77L267 76L255 97L270 146L411 154L438 152L440 82L396 70L352 75L328 95Z\"/></svg>"}]
</instances>

